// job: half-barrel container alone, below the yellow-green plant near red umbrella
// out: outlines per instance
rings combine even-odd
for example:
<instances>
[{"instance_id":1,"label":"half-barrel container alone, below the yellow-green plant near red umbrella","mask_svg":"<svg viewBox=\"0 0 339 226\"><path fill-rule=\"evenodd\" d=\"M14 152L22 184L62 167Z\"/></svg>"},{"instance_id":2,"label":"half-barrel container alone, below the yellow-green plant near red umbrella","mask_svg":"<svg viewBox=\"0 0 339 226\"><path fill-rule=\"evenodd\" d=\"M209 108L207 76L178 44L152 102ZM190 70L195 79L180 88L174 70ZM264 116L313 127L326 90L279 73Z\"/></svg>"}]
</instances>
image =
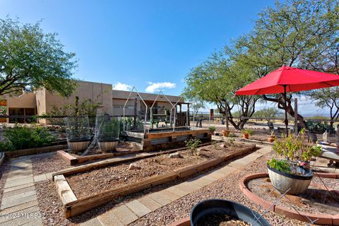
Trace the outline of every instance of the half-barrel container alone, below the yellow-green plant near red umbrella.
<instances>
[{"instance_id":1,"label":"half-barrel container alone, below the yellow-green plant near red umbrella","mask_svg":"<svg viewBox=\"0 0 339 226\"><path fill-rule=\"evenodd\" d=\"M269 165L267 165L267 169L270 183L281 193L285 193L290 189L287 191L287 194L304 194L313 178L313 171L311 169L307 169L308 172L305 175L280 172L278 169L271 168Z\"/></svg>"}]
</instances>

